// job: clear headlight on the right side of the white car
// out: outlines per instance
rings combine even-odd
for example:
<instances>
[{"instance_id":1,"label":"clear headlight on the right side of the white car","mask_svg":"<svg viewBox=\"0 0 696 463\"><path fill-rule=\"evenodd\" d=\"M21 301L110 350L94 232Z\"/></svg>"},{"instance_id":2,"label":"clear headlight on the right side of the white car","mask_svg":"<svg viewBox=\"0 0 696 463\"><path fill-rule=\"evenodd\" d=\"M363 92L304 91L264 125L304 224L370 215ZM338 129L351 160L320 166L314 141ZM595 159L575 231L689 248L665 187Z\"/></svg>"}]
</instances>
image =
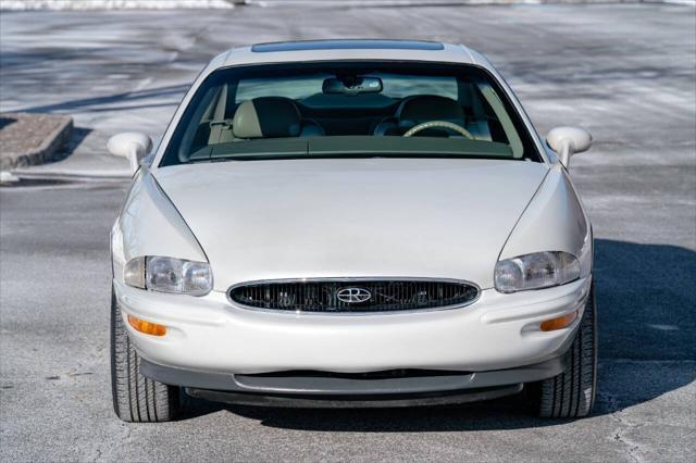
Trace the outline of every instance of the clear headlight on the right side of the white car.
<instances>
[{"instance_id":1,"label":"clear headlight on the right side of the white car","mask_svg":"<svg viewBox=\"0 0 696 463\"><path fill-rule=\"evenodd\" d=\"M500 292L563 285L580 278L580 261L568 252L535 252L498 261L495 287Z\"/></svg>"}]
</instances>

